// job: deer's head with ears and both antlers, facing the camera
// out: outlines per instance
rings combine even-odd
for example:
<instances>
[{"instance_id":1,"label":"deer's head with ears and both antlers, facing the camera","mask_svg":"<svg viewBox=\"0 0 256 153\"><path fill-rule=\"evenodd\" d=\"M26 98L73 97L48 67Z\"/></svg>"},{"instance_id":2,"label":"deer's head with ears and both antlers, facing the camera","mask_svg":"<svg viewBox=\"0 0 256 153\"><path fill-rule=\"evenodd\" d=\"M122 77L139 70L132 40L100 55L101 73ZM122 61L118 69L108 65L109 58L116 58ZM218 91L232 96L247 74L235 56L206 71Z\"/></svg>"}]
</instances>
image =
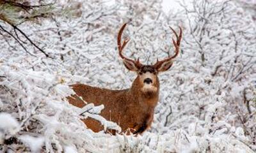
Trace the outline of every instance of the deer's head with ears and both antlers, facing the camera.
<instances>
[{"instance_id":1,"label":"deer's head with ears and both antlers, facing the camera","mask_svg":"<svg viewBox=\"0 0 256 153\"><path fill-rule=\"evenodd\" d=\"M178 36L178 34L172 29L172 27L170 27L170 29L173 31L176 37L176 41L172 39L173 45L175 47L175 54L173 56L167 57L166 59L163 59L161 61L158 61L157 59L157 62L153 65L144 65L144 64L141 64L139 58L138 60L134 61L132 59L125 57L122 54L122 51L124 50L125 45L127 45L127 43L129 42L129 38L126 38L123 41L123 43L121 43L122 33L126 25L127 23L122 25L118 33L118 37L117 37L118 54L123 59L125 67L130 71L135 71L137 73L138 77L136 78L136 81L140 85L141 91L158 92L159 81L158 81L157 75L159 72L167 71L172 67L173 59L177 57L177 55L179 54L180 40L182 38L182 29L179 27L180 33Z\"/></svg>"}]
</instances>

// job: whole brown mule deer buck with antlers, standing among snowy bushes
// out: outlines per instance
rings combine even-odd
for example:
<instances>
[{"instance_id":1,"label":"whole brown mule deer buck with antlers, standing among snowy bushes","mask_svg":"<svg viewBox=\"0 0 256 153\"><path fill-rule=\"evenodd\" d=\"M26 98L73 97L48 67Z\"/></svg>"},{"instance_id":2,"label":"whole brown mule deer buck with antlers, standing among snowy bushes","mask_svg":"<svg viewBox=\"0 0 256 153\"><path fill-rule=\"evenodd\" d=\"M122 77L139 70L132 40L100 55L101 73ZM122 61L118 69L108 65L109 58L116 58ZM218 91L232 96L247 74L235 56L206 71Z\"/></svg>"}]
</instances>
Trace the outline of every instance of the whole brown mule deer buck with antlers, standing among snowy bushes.
<instances>
[{"instance_id":1,"label":"whole brown mule deer buck with antlers, standing among snowy bushes","mask_svg":"<svg viewBox=\"0 0 256 153\"><path fill-rule=\"evenodd\" d=\"M133 134L143 133L150 127L153 120L154 108L157 105L159 97L159 80L158 73L171 68L173 59L179 54L180 40L182 38L182 29L179 35L170 27L176 37L176 41L172 39L175 47L175 54L167 57L162 61L158 61L154 65L144 65L138 60L134 61L123 55L125 45L129 39L125 39L121 43L122 33L127 24L122 25L118 37L118 54L122 58L124 65L130 71L137 73L137 77L131 85L131 88L124 90L109 90L99 87L91 87L84 84L74 84L72 89L76 95L68 97L70 104L82 108L86 104L84 101L93 103L94 105L104 105L104 109L100 113L107 120L116 122L122 132L129 131ZM86 126L94 132L99 132L103 126L99 121L94 119L83 119ZM116 131L111 130L115 135Z\"/></svg>"}]
</instances>

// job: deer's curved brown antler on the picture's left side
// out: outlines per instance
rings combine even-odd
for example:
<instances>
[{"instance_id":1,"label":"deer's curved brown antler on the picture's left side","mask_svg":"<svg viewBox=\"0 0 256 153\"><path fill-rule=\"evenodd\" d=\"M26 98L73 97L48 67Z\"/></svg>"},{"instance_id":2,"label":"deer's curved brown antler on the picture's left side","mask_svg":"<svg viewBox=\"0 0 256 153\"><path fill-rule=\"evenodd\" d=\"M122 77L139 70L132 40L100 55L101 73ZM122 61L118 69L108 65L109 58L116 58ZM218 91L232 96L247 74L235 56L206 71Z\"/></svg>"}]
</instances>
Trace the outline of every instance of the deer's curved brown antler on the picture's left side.
<instances>
[{"instance_id":1,"label":"deer's curved brown antler on the picture's left side","mask_svg":"<svg viewBox=\"0 0 256 153\"><path fill-rule=\"evenodd\" d=\"M129 42L129 38L126 38L124 41L123 41L123 44L121 43L121 40L122 40L122 33L124 31L124 28L125 26L127 25L127 23L125 23L124 25L122 25L121 29L119 30L118 32L118 36L117 36L117 45L118 45L118 54L120 55L120 57L122 59L125 59L127 61L131 61L135 64L135 66L137 68L139 68L141 66L141 63L140 63L140 59L138 59L137 61L134 61L132 59L128 59L127 57L125 57L123 54L122 54L122 51L125 47L125 45Z\"/></svg>"}]
</instances>

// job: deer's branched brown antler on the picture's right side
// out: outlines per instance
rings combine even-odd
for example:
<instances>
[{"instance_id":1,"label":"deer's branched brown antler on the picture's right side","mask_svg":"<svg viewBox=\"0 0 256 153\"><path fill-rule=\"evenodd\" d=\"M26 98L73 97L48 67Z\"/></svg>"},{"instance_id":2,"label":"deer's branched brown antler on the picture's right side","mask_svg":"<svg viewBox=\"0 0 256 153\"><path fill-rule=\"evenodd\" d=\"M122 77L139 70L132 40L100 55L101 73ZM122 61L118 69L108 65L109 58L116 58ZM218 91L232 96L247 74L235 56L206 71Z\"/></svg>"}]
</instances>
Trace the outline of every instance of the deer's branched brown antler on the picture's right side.
<instances>
[{"instance_id":1,"label":"deer's branched brown antler on the picture's right side","mask_svg":"<svg viewBox=\"0 0 256 153\"><path fill-rule=\"evenodd\" d=\"M172 38L172 42L173 42L173 45L174 45L174 47L175 47L175 54L174 54L172 57L168 57L168 58L164 59L163 61L158 61L158 59L157 59L156 64L154 64L154 67L155 67L155 68L159 68L164 62L171 61L172 59L174 59L175 57L177 57L177 55L179 54L180 40L181 40L181 38L182 38L182 29L181 29L181 27L179 26L179 29L180 29L179 36L178 36L178 34L172 29L172 27L170 27L170 29L171 29L172 32L175 34L176 39L177 39L177 41L175 41L175 40L173 40L173 38Z\"/></svg>"}]
</instances>

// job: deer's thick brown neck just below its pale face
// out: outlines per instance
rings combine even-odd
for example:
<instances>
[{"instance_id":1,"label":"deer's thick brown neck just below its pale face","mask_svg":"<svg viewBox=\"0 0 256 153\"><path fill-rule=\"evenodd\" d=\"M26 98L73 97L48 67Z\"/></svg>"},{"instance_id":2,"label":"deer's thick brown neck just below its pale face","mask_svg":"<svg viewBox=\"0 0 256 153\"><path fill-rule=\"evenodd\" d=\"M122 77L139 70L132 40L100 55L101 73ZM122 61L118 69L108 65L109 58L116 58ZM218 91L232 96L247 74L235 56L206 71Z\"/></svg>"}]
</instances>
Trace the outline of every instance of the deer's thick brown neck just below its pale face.
<instances>
[{"instance_id":1,"label":"deer's thick brown neck just below its pale face","mask_svg":"<svg viewBox=\"0 0 256 153\"><path fill-rule=\"evenodd\" d=\"M132 83L132 87L129 90L129 94L138 99L138 103L142 106L155 107L159 98L159 81L157 79L156 91L143 91L143 85L140 84L140 79L137 77Z\"/></svg>"}]
</instances>

